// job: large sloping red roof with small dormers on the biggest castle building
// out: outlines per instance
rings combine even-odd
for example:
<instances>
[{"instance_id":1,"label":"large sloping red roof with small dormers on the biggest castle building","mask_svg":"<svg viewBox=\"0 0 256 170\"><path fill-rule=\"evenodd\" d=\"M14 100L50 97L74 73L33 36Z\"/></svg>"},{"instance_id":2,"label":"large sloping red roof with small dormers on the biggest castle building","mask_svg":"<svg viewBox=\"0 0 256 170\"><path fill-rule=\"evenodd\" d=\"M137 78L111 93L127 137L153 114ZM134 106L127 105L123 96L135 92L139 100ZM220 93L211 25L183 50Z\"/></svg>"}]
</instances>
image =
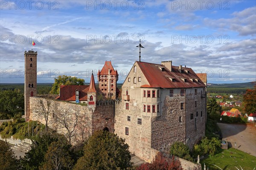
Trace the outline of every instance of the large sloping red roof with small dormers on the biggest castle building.
<instances>
[{"instance_id":1,"label":"large sloping red roof with small dormers on the biggest castle building","mask_svg":"<svg viewBox=\"0 0 256 170\"><path fill-rule=\"evenodd\" d=\"M172 72L162 64L146 63L136 61L141 71L148 80L149 86L154 88L191 88L205 87L204 83L199 80L193 82L190 79L200 79L191 68L184 67L180 73L178 66L172 66ZM163 69L163 71L162 71ZM186 71L185 71L186 70ZM189 71L189 73L187 73ZM172 81L171 79L175 79ZM183 81L186 79L186 82ZM144 87L143 85L142 87Z\"/></svg>"}]
</instances>

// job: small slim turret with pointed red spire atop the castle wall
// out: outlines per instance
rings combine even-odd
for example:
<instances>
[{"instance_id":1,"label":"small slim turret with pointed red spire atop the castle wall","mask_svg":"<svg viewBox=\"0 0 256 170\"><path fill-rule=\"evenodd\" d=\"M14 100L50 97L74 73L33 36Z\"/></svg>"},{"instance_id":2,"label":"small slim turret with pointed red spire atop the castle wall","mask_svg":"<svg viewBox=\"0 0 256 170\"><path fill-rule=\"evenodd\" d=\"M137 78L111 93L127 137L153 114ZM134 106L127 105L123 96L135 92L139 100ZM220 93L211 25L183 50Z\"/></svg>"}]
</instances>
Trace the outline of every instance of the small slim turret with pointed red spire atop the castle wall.
<instances>
[{"instance_id":1,"label":"small slim turret with pointed red spire atop the castle wall","mask_svg":"<svg viewBox=\"0 0 256 170\"><path fill-rule=\"evenodd\" d=\"M90 80L90 86L87 91L87 101L88 101L88 108L89 109L95 109L96 107L96 86L94 81L94 76L92 73L91 80Z\"/></svg>"}]
</instances>

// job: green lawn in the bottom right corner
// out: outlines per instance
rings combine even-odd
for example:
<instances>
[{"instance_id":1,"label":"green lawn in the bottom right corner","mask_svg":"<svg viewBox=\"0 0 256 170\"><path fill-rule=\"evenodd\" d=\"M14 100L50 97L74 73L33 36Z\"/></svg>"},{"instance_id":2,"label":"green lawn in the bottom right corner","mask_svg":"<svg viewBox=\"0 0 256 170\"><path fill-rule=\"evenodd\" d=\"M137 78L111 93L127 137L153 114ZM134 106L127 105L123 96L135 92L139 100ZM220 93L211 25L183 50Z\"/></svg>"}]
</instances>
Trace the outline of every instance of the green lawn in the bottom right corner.
<instances>
[{"instance_id":1,"label":"green lawn in the bottom right corner","mask_svg":"<svg viewBox=\"0 0 256 170\"><path fill-rule=\"evenodd\" d=\"M228 150L222 150L215 156L200 160L200 163L202 164L202 170L204 169L204 163L209 170L220 170L218 167L222 170L237 170L236 167L239 170L241 170L241 167L243 170L254 170L256 167L256 158L240 150L229 148Z\"/></svg>"}]
</instances>

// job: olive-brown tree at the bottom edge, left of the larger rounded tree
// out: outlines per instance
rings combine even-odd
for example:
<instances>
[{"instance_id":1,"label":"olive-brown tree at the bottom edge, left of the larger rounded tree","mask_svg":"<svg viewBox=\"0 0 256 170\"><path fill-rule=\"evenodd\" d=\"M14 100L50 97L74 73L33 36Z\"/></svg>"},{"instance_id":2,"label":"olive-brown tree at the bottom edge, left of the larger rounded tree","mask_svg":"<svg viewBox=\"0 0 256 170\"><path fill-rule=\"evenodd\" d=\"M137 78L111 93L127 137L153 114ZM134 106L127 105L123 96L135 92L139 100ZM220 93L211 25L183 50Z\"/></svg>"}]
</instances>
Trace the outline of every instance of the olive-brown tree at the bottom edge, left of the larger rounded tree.
<instances>
[{"instance_id":1,"label":"olive-brown tree at the bottom edge, left of the larger rounded tree","mask_svg":"<svg viewBox=\"0 0 256 170\"><path fill-rule=\"evenodd\" d=\"M70 145L65 146L61 141L52 142L44 156L44 164L39 170L70 170L73 160L70 157Z\"/></svg>"}]
</instances>

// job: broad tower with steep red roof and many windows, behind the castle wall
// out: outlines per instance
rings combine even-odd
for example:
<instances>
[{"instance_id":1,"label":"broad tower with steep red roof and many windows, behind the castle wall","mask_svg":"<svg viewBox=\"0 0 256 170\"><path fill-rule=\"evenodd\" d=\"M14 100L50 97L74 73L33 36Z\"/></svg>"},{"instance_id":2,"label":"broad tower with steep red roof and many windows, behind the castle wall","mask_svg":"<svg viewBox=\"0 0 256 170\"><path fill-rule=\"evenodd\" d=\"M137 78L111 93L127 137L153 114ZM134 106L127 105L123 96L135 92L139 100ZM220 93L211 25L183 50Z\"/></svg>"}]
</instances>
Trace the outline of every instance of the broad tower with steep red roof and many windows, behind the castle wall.
<instances>
[{"instance_id":1,"label":"broad tower with steep red roof and many windows, behind the castle wall","mask_svg":"<svg viewBox=\"0 0 256 170\"><path fill-rule=\"evenodd\" d=\"M99 89L105 98L116 99L119 90L116 82L118 81L117 70L114 70L111 61L106 61L102 70L98 72Z\"/></svg>"}]
</instances>

